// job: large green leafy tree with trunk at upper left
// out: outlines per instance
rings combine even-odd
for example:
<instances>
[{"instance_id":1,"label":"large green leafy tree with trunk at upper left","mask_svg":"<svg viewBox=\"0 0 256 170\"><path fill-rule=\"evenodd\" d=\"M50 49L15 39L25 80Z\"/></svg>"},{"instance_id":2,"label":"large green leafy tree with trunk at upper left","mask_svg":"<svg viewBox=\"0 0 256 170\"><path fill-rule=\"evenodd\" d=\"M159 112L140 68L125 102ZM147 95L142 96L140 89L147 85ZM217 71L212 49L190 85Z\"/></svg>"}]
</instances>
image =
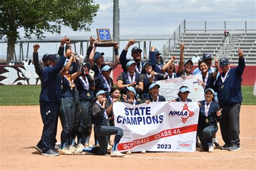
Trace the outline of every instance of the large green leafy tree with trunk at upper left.
<instances>
[{"instance_id":1,"label":"large green leafy tree with trunk at upper left","mask_svg":"<svg viewBox=\"0 0 256 170\"><path fill-rule=\"evenodd\" d=\"M0 0L0 38L6 36L8 42L6 63L14 58L19 28L25 37L35 34L38 39L44 32L59 34L63 25L90 31L98 9L93 0Z\"/></svg>"}]
</instances>

